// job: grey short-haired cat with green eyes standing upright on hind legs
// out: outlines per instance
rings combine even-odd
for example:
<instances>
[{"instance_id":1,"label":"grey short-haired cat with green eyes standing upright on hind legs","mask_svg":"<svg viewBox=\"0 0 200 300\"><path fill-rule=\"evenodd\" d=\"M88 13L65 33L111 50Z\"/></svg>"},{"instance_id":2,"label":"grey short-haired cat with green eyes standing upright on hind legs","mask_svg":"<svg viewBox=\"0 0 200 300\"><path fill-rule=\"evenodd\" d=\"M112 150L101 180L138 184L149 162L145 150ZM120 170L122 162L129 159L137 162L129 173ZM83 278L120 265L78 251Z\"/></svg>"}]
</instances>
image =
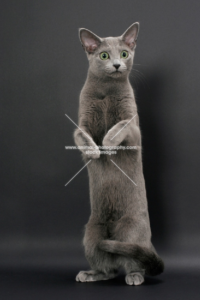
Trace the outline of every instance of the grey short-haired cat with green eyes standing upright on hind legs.
<instances>
[{"instance_id":1,"label":"grey short-haired cat with green eyes standing upright on hind legs","mask_svg":"<svg viewBox=\"0 0 200 300\"><path fill-rule=\"evenodd\" d=\"M81 130L75 131L74 139L77 146L94 148L91 154L81 149L88 163L91 203L83 239L91 270L79 272L76 280L81 282L114 278L123 268L126 283L139 285L145 273L153 276L164 270L151 243L141 134L129 82L138 30L138 22L115 38L99 38L87 29L79 30L89 70L80 93ZM120 149L108 155L95 150L97 145L137 149Z\"/></svg>"}]
</instances>

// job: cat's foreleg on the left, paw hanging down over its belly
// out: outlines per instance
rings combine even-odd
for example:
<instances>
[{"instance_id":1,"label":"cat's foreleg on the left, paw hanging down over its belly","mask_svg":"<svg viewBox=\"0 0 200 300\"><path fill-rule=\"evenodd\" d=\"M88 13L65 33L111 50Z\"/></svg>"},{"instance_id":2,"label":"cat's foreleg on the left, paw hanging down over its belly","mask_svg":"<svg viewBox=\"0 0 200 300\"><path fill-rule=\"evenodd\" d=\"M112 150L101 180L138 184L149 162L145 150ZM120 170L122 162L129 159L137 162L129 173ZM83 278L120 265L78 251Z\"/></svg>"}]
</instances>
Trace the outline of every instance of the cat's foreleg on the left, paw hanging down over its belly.
<instances>
[{"instance_id":1,"label":"cat's foreleg on the left, paw hanging down over its belly","mask_svg":"<svg viewBox=\"0 0 200 300\"><path fill-rule=\"evenodd\" d=\"M74 132L75 144L77 146L80 146L80 151L83 152L83 154L86 155L88 158L99 158L100 151L98 149L98 146L89 136L89 134L86 131L84 131L84 129L82 130L83 131L81 131L79 128L75 130Z\"/></svg>"}]
</instances>

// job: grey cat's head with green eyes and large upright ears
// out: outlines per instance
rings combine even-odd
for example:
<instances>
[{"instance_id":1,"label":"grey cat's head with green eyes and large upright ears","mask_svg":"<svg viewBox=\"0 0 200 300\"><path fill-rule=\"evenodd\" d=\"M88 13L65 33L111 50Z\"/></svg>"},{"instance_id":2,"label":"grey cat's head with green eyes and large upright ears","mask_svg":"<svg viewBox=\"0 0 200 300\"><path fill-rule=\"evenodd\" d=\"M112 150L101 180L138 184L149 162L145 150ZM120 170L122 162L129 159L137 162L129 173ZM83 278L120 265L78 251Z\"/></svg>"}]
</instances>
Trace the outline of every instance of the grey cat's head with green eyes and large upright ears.
<instances>
[{"instance_id":1,"label":"grey cat's head with green eyes and large upright ears","mask_svg":"<svg viewBox=\"0 0 200 300\"><path fill-rule=\"evenodd\" d=\"M81 28L79 37L87 53L89 69L99 77L128 76L134 58L139 23L132 24L120 37L99 38Z\"/></svg>"}]
</instances>

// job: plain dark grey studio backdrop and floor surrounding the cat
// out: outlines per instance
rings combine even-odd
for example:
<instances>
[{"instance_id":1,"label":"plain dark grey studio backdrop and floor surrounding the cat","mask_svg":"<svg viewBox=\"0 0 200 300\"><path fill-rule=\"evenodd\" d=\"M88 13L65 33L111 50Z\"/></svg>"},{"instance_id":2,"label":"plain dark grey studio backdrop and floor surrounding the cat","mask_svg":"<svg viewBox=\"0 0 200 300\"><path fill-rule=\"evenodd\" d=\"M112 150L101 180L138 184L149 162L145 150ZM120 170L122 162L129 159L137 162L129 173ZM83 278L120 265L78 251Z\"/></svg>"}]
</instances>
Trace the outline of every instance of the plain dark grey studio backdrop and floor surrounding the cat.
<instances>
[{"instance_id":1,"label":"plain dark grey studio backdrop and floor surrounding the cat","mask_svg":"<svg viewBox=\"0 0 200 300\"><path fill-rule=\"evenodd\" d=\"M199 1L1 1L1 299L198 299ZM90 213L73 146L88 61L84 27L119 36L140 22L130 77L143 138L152 241L166 271L76 283ZM141 74L141 73L142 74ZM113 298L112 298L113 297ZM138 297L138 298L137 298Z\"/></svg>"}]
</instances>

